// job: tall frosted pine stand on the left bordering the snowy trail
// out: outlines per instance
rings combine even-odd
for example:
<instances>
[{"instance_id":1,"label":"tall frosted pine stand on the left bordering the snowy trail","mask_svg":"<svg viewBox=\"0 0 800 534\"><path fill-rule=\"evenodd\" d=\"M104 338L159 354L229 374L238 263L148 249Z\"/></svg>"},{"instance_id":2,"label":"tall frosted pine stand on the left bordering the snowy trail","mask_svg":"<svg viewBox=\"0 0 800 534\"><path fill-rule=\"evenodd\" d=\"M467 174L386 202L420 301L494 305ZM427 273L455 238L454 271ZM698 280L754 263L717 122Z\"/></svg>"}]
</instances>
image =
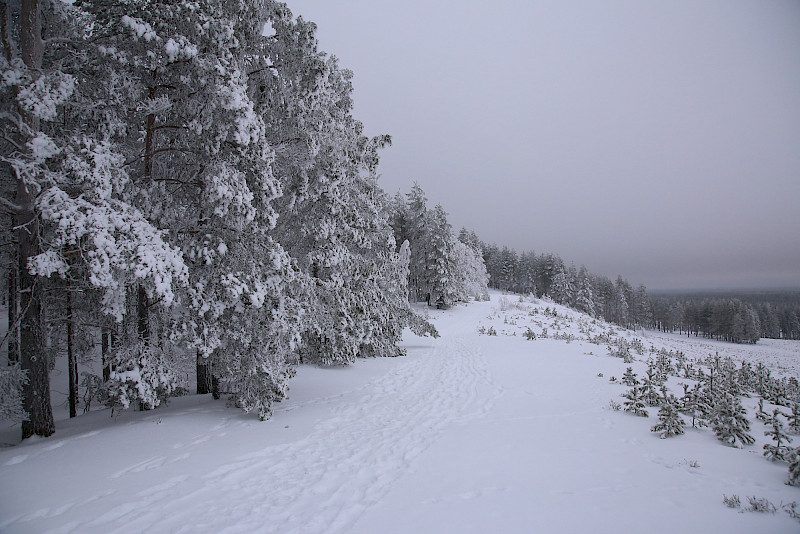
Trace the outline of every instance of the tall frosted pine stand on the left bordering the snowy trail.
<instances>
[{"instance_id":1,"label":"tall frosted pine stand on the left bordering the snowy trail","mask_svg":"<svg viewBox=\"0 0 800 534\"><path fill-rule=\"evenodd\" d=\"M264 419L299 362L437 335L409 290L486 297L441 207L414 193L392 224L391 138L363 134L352 73L285 4L23 0L0 23L0 418L23 438L55 430L59 357L71 416L79 391L151 409L196 377Z\"/></svg>"}]
</instances>

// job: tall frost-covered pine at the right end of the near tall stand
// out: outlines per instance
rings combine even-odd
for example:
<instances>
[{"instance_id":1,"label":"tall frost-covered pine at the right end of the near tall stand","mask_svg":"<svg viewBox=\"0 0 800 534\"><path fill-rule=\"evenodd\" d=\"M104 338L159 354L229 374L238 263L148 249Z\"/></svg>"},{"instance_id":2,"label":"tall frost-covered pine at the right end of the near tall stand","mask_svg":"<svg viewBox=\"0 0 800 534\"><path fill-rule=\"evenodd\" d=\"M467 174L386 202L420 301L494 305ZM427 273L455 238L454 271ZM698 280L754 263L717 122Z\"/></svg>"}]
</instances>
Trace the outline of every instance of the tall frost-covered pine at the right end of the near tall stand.
<instances>
[{"instance_id":1,"label":"tall frost-covered pine at the right end of the near tall stand","mask_svg":"<svg viewBox=\"0 0 800 534\"><path fill-rule=\"evenodd\" d=\"M317 49L313 24L282 15L272 29L257 110L282 177L275 235L307 280L299 351L323 364L394 355L396 332L424 321L395 299L403 292L393 274L398 251L376 173L390 139L363 135L351 114L352 73ZM410 238L415 222L408 210Z\"/></svg>"}]
</instances>

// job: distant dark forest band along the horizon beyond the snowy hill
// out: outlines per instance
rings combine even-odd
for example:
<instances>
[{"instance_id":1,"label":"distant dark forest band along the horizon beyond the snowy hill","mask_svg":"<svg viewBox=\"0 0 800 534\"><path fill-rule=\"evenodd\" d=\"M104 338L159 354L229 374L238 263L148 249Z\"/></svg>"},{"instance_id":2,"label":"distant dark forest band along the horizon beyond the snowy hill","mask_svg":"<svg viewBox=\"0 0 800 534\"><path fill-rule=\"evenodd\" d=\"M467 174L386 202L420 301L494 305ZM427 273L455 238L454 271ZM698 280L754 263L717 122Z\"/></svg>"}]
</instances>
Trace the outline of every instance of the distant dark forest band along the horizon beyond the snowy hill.
<instances>
[{"instance_id":1,"label":"distant dark forest band along the horizon beyond the snowy hill","mask_svg":"<svg viewBox=\"0 0 800 534\"><path fill-rule=\"evenodd\" d=\"M466 229L459 238L483 252L490 287L547 296L626 328L685 332L734 343L800 339L800 290L652 293L621 276L612 281L584 266L567 266L557 254L518 253L484 243Z\"/></svg>"}]
</instances>

